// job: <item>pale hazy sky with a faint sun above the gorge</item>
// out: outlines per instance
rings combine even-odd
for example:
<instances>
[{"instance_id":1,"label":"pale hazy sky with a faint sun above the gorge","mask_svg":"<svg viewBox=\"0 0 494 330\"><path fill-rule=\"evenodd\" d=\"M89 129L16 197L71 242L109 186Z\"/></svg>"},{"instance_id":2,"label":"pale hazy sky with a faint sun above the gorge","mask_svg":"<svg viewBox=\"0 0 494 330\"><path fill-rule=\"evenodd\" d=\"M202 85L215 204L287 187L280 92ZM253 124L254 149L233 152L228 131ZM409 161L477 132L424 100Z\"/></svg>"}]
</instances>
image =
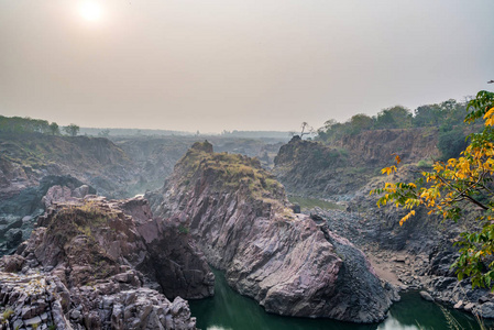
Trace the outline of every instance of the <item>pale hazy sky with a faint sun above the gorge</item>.
<instances>
[{"instance_id":1,"label":"pale hazy sky with a faint sun above the gorge","mask_svg":"<svg viewBox=\"0 0 494 330\"><path fill-rule=\"evenodd\" d=\"M86 2L0 0L0 114L288 131L494 87L493 0Z\"/></svg>"}]
</instances>

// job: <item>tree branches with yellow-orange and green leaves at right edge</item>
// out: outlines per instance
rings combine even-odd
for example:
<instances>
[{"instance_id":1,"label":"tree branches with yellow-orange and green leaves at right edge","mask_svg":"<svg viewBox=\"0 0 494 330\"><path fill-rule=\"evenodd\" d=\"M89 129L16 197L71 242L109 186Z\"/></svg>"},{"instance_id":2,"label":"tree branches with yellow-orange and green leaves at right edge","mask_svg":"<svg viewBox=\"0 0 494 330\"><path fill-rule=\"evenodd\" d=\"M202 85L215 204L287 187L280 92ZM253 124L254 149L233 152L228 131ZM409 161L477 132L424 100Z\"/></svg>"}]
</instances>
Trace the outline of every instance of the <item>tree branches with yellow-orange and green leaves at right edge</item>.
<instances>
[{"instance_id":1,"label":"tree branches with yellow-orange and green leaves at right edge","mask_svg":"<svg viewBox=\"0 0 494 330\"><path fill-rule=\"evenodd\" d=\"M414 183L386 183L371 194L384 194L377 206L395 204L408 210L399 224L415 216L418 207L430 213L458 221L464 212L477 216L477 230L461 233L457 242L460 257L453 266L459 279L468 276L475 286L494 286L494 94L480 91L471 100L464 122L484 120L481 133L469 135L469 145L457 158L436 162L431 172L420 173ZM396 156L399 165L399 156ZM382 169L391 175L398 170L393 165Z\"/></svg>"}]
</instances>

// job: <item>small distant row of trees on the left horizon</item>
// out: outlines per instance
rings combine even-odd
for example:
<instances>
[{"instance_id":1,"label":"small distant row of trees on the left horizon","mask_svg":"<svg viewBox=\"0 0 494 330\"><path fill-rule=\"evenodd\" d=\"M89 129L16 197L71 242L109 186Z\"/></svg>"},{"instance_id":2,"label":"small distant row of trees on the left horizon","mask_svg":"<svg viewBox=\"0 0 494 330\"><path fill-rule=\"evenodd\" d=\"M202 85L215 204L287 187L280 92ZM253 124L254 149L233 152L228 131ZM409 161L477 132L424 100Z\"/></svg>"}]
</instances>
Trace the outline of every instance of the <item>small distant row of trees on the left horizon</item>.
<instances>
[{"instance_id":1,"label":"small distant row of trees on the left horizon","mask_svg":"<svg viewBox=\"0 0 494 330\"><path fill-rule=\"evenodd\" d=\"M70 136L76 136L79 132L79 127L69 124L68 127L63 127L63 131ZM47 120L42 119L0 116L0 133L41 133L61 135L61 127L58 127L56 122L50 123Z\"/></svg>"}]
</instances>

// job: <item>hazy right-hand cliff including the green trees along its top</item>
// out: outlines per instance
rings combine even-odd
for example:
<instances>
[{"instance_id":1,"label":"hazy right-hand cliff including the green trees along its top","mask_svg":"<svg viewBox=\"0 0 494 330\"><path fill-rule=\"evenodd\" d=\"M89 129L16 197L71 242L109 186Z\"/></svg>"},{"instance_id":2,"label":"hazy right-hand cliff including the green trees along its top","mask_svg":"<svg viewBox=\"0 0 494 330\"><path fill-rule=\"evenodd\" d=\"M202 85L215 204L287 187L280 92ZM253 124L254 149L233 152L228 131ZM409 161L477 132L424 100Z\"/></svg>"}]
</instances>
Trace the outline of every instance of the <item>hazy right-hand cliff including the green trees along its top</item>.
<instances>
[{"instance_id":1,"label":"hazy right-hand cliff including the green trees along its top","mask_svg":"<svg viewBox=\"0 0 494 330\"><path fill-rule=\"evenodd\" d=\"M393 164L392 154L426 170L435 161L458 157L466 147L465 136L481 130L462 124L466 106L447 100L414 112L397 106L343 123L329 120L316 141L296 136L282 146L274 173L290 195L350 200L378 180L380 169Z\"/></svg>"}]
</instances>

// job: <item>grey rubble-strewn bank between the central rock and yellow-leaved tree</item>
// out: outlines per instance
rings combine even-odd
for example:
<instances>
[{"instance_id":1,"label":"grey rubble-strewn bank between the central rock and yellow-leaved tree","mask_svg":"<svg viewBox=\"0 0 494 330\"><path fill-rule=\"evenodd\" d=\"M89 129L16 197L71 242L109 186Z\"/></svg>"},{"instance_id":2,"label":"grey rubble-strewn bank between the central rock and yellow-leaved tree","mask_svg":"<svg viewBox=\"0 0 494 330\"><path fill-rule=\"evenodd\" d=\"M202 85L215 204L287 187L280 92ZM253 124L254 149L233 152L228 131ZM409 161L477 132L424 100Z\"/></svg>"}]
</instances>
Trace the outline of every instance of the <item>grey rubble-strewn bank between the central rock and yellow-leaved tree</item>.
<instances>
[{"instance_id":1,"label":"grey rubble-strewn bank between the central rock and yellow-leaved tree","mask_svg":"<svg viewBox=\"0 0 494 330\"><path fill-rule=\"evenodd\" d=\"M383 219L383 212L316 208L310 213L318 223L361 246L382 272L393 273L400 289L424 290L421 296L427 299L482 319L494 318L494 295L487 288L472 288L468 278L458 280L451 267L459 256L459 246L452 245L460 233L457 226L440 226L439 220L427 223L427 218L419 213L420 218L413 218L403 227L396 224L399 216ZM387 221L394 222L396 230L387 227Z\"/></svg>"}]
</instances>

